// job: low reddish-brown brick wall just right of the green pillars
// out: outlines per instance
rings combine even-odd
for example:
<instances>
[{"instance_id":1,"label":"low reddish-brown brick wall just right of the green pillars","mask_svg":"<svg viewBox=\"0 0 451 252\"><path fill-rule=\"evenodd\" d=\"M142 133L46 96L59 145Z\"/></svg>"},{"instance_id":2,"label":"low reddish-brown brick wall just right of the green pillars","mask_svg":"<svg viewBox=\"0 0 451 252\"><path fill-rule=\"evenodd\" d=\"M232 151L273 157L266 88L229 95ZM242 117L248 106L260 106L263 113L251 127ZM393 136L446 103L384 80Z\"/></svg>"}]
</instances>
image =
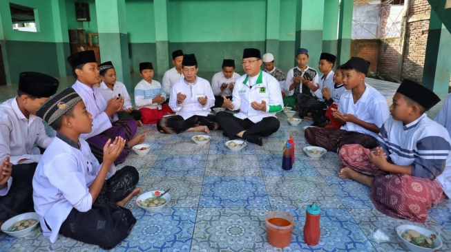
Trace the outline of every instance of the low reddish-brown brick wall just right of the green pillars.
<instances>
[{"instance_id":1,"label":"low reddish-brown brick wall just right of the green pillars","mask_svg":"<svg viewBox=\"0 0 451 252\"><path fill-rule=\"evenodd\" d=\"M377 72L378 39L354 39L351 41L351 56L358 56L370 61L370 71Z\"/></svg>"}]
</instances>

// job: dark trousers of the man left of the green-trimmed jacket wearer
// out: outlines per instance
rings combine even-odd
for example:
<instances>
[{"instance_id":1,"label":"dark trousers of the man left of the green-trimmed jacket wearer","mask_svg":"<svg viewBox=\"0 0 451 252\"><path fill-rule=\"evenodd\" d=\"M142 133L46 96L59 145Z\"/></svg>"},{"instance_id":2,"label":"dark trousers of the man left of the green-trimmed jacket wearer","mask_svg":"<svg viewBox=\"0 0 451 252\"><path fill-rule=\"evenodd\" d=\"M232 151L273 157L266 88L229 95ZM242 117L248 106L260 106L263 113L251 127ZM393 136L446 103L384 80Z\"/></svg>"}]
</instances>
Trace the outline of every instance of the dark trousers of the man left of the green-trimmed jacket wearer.
<instances>
[{"instance_id":1,"label":"dark trousers of the man left of the green-trimmed jacket wearer","mask_svg":"<svg viewBox=\"0 0 451 252\"><path fill-rule=\"evenodd\" d=\"M159 132L166 134L180 134L186 132L191 127L198 125L204 125L209 127L210 130L216 130L220 128L220 125L216 123L215 116L191 116L186 120L182 116L169 116L163 117L157 122L157 129Z\"/></svg>"}]
</instances>

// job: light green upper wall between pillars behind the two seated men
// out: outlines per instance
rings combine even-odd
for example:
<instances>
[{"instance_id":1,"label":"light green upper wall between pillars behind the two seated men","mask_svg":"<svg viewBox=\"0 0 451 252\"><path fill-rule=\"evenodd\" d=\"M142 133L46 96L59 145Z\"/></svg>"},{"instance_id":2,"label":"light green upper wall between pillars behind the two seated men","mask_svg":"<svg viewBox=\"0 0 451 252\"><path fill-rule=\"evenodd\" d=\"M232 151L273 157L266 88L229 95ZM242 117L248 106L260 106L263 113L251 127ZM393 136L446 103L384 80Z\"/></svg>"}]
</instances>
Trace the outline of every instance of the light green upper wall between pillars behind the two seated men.
<instances>
[{"instance_id":1,"label":"light green upper wall between pillars behind the two seated men","mask_svg":"<svg viewBox=\"0 0 451 252\"><path fill-rule=\"evenodd\" d=\"M170 0L171 42L265 41L266 0Z\"/></svg>"}]
</instances>

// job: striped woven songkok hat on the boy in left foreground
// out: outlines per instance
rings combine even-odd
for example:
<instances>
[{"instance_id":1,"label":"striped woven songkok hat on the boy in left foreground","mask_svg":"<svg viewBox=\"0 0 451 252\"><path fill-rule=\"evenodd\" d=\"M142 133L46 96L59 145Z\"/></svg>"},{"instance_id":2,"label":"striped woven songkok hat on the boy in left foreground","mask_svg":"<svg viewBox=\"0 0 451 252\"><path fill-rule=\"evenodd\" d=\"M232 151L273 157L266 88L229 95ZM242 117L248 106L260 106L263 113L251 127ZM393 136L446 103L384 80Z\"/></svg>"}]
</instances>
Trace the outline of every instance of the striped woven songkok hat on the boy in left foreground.
<instances>
[{"instance_id":1,"label":"striped woven songkok hat on the boy in left foreground","mask_svg":"<svg viewBox=\"0 0 451 252\"><path fill-rule=\"evenodd\" d=\"M66 114L77 103L81 97L72 87L50 96L45 103L37 109L36 115L43 118L48 125L52 125L55 120Z\"/></svg>"}]
</instances>

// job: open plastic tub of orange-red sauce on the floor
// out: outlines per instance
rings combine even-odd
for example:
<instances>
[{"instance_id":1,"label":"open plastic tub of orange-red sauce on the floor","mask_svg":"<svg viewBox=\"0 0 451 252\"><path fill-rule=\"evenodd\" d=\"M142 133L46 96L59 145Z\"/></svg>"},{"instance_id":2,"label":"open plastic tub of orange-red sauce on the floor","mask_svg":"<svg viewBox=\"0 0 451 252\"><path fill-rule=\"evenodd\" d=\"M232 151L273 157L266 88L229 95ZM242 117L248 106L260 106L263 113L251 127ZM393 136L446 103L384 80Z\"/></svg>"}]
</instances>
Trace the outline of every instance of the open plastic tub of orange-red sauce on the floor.
<instances>
[{"instance_id":1,"label":"open plastic tub of orange-red sauce on the floor","mask_svg":"<svg viewBox=\"0 0 451 252\"><path fill-rule=\"evenodd\" d=\"M289 246L293 232L294 218L284 211L271 211L265 216L268 242L272 246Z\"/></svg>"}]
</instances>

